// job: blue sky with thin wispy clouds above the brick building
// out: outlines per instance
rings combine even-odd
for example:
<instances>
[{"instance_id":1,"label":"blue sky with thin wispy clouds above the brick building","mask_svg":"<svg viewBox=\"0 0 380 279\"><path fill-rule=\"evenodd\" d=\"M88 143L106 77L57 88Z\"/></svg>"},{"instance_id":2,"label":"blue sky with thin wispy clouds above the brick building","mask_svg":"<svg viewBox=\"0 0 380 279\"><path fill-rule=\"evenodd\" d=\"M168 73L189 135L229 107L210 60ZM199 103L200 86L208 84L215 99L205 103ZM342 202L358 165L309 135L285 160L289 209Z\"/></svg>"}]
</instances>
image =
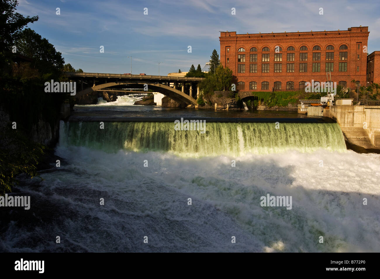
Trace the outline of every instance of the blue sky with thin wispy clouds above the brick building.
<instances>
[{"instance_id":1,"label":"blue sky with thin wispy clouds above the brick building","mask_svg":"<svg viewBox=\"0 0 380 279\"><path fill-rule=\"evenodd\" d=\"M158 62L160 75L187 72L192 64L206 70L212 51L220 53L220 31L227 30L331 31L361 25L369 27L368 53L380 50L378 0L19 0L17 12L39 16L28 27L49 40L65 64L84 72L130 73L130 57L133 74L158 75Z\"/></svg>"}]
</instances>

